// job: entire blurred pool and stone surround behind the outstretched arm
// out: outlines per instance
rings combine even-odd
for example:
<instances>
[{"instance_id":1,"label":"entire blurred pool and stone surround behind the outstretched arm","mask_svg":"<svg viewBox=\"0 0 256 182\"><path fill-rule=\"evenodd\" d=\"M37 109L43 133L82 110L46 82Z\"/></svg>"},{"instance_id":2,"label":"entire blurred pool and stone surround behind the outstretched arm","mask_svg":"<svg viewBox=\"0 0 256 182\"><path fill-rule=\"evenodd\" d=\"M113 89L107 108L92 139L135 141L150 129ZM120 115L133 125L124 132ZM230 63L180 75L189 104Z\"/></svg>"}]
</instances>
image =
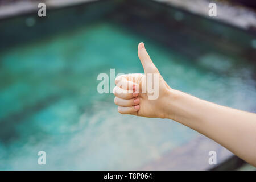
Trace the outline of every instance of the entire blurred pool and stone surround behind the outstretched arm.
<instances>
[{"instance_id":1,"label":"entire blurred pool and stone surround behind the outstretched arm","mask_svg":"<svg viewBox=\"0 0 256 182\"><path fill-rule=\"evenodd\" d=\"M97 92L100 73L143 72L144 42L172 88L255 113L255 1L0 0L0 40L1 170L256 169L179 123L121 115Z\"/></svg>"}]
</instances>

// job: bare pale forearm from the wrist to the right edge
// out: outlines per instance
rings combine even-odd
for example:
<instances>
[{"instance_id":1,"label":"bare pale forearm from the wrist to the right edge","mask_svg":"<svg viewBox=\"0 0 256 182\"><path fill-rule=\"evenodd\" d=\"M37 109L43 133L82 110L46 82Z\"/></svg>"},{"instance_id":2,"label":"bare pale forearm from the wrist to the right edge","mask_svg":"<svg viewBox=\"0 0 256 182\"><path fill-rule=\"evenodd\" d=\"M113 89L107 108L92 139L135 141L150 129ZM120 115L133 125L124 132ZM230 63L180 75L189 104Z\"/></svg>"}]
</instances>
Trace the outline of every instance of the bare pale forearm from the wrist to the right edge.
<instances>
[{"instance_id":1,"label":"bare pale forearm from the wrist to the right edge","mask_svg":"<svg viewBox=\"0 0 256 182\"><path fill-rule=\"evenodd\" d=\"M256 166L256 114L200 100L171 90L166 117L215 140ZM168 102L168 103L167 103Z\"/></svg>"}]
</instances>

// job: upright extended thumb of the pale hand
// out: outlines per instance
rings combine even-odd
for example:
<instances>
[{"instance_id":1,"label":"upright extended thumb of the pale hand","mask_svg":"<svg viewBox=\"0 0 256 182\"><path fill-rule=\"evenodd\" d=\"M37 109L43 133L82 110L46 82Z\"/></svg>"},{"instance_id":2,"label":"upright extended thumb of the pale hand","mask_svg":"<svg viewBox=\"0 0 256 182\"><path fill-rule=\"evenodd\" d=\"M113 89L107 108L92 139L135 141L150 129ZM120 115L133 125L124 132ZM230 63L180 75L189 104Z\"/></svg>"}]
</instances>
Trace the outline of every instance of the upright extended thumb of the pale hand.
<instances>
[{"instance_id":1,"label":"upright extended thumb of the pale hand","mask_svg":"<svg viewBox=\"0 0 256 182\"><path fill-rule=\"evenodd\" d=\"M138 45L138 56L144 68L144 73L159 73L158 69L150 59L143 42Z\"/></svg>"}]
</instances>

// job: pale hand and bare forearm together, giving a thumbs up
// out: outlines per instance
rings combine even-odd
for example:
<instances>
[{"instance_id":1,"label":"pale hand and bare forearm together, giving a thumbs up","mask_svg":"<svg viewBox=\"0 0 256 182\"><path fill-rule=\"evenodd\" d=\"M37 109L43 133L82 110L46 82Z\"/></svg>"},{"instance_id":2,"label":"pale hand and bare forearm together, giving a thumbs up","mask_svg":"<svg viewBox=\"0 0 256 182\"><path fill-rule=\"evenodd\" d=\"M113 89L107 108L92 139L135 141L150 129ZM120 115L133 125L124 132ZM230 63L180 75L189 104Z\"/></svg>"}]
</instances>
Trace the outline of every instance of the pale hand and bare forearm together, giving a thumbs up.
<instances>
[{"instance_id":1,"label":"pale hand and bare forearm together, giving a thumbs up","mask_svg":"<svg viewBox=\"0 0 256 182\"><path fill-rule=\"evenodd\" d=\"M213 139L256 167L256 114L172 89L150 59L144 43L138 45L138 56L145 74L127 74L115 79L114 102L119 113L172 119ZM141 92L148 73L159 75L159 96L155 100L149 100L149 94Z\"/></svg>"}]
</instances>

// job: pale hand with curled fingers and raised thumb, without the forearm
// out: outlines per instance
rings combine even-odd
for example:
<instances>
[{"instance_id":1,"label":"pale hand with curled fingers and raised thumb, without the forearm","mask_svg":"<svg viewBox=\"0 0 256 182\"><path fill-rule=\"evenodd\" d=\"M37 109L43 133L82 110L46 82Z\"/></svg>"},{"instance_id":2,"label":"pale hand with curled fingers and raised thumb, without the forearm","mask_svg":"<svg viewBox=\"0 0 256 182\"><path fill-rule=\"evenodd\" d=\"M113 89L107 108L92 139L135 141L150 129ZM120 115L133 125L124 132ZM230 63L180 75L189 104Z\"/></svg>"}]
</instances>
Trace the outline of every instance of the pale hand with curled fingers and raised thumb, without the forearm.
<instances>
[{"instance_id":1,"label":"pale hand with curled fingers and raised thumb, without the forearm","mask_svg":"<svg viewBox=\"0 0 256 182\"><path fill-rule=\"evenodd\" d=\"M170 94L170 86L163 80L148 55L144 43L138 45L138 56L144 74L133 73L115 78L114 103L121 114L149 118L166 118L164 100Z\"/></svg>"}]
</instances>

